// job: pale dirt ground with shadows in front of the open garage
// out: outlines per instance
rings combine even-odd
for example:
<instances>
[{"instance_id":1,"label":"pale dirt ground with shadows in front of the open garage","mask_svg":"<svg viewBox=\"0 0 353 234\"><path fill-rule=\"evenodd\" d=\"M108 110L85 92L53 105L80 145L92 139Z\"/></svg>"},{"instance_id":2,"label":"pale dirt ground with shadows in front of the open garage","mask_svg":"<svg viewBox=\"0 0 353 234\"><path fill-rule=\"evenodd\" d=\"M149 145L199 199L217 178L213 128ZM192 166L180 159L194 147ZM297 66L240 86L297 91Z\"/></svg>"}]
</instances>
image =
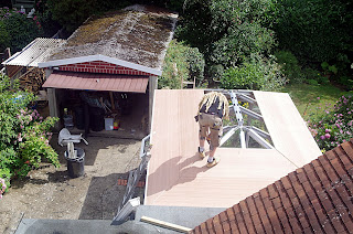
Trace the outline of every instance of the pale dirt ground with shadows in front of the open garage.
<instances>
[{"instance_id":1,"label":"pale dirt ground with shadows in front of the open garage","mask_svg":"<svg viewBox=\"0 0 353 234\"><path fill-rule=\"evenodd\" d=\"M23 180L15 180L0 200L0 233L14 233L21 219L58 220L113 220L126 187L118 179L127 179L129 171L138 167L141 141L108 137L89 137L89 145L75 147L85 150L85 176L68 177L64 151L60 153L62 167L55 169L42 163ZM142 199L143 188L136 195Z\"/></svg>"}]
</instances>

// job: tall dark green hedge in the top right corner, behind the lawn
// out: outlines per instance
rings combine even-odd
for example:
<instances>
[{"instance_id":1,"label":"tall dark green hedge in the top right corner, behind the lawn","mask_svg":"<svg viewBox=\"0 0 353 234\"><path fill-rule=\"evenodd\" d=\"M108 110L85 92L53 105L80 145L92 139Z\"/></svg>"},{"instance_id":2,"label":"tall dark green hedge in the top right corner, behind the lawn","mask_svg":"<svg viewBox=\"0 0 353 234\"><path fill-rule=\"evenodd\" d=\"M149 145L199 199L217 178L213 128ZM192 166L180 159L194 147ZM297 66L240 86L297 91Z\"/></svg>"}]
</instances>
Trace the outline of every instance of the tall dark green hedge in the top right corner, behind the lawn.
<instances>
[{"instance_id":1,"label":"tall dark green hedge in the top right corner, behind the lawn","mask_svg":"<svg viewBox=\"0 0 353 234\"><path fill-rule=\"evenodd\" d=\"M281 50L300 61L321 63L352 52L352 4L339 1L279 0L274 30Z\"/></svg>"}]
</instances>

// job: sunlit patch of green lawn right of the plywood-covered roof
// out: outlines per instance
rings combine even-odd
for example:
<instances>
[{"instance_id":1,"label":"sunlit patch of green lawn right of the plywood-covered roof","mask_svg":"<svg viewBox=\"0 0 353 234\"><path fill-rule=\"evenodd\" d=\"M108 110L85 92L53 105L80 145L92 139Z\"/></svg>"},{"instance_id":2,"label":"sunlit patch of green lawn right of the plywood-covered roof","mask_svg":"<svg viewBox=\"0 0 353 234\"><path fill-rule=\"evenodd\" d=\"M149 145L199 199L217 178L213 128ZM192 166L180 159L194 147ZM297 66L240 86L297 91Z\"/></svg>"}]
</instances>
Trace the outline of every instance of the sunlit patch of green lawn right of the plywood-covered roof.
<instances>
[{"instance_id":1,"label":"sunlit patch of green lawn right of the plywood-covered roof","mask_svg":"<svg viewBox=\"0 0 353 234\"><path fill-rule=\"evenodd\" d=\"M304 120L308 120L309 114L323 114L323 110L332 107L342 95L353 95L353 92L342 92L332 85L291 84L280 92L290 95Z\"/></svg>"}]
</instances>

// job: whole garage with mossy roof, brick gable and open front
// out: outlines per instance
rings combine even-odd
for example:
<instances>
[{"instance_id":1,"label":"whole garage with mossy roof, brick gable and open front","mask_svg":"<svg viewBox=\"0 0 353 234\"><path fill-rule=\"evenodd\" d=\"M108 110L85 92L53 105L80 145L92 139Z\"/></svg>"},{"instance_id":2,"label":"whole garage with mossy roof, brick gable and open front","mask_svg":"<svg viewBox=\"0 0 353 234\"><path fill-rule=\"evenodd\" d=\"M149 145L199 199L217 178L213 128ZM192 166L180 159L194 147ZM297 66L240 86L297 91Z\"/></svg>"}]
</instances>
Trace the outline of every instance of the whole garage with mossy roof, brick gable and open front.
<instances>
[{"instance_id":1,"label":"whole garage with mossy roof, brick gable and open front","mask_svg":"<svg viewBox=\"0 0 353 234\"><path fill-rule=\"evenodd\" d=\"M73 132L143 138L178 14L131 6L89 18L39 63L50 115Z\"/></svg>"}]
</instances>

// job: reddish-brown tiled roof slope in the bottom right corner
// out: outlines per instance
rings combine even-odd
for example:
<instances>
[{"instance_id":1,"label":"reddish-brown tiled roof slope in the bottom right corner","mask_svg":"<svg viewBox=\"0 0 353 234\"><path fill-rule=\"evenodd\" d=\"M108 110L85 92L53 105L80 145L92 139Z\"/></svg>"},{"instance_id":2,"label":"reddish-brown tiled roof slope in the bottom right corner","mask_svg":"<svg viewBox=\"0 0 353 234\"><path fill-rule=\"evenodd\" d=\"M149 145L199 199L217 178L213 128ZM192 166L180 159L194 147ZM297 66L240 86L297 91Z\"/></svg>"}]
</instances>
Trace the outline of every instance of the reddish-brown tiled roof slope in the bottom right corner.
<instances>
[{"instance_id":1,"label":"reddish-brown tiled roof slope in the bottom right corner","mask_svg":"<svg viewBox=\"0 0 353 234\"><path fill-rule=\"evenodd\" d=\"M191 233L351 233L352 178L353 139L200 224Z\"/></svg>"}]
</instances>

